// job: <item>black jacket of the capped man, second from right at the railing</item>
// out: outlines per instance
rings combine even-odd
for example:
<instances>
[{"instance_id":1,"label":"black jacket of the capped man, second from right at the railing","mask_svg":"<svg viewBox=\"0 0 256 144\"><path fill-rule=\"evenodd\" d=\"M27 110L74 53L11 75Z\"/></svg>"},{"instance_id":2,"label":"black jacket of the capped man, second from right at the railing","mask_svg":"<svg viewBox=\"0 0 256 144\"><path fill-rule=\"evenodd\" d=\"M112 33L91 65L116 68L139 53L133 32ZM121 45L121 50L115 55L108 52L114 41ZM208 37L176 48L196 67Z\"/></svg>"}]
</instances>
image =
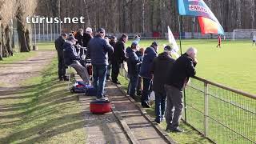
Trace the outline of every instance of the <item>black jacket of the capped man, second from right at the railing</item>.
<instances>
[{"instance_id":1,"label":"black jacket of the capped man, second from right at the railing","mask_svg":"<svg viewBox=\"0 0 256 144\"><path fill-rule=\"evenodd\" d=\"M165 91L166 78L168 71L173 63L174 58L171 58L170 54L163 52L159 54L157 58L154 58L151 72L154 74L153 78L153 90L156 92Z\"/></svg>"}]
</instances>

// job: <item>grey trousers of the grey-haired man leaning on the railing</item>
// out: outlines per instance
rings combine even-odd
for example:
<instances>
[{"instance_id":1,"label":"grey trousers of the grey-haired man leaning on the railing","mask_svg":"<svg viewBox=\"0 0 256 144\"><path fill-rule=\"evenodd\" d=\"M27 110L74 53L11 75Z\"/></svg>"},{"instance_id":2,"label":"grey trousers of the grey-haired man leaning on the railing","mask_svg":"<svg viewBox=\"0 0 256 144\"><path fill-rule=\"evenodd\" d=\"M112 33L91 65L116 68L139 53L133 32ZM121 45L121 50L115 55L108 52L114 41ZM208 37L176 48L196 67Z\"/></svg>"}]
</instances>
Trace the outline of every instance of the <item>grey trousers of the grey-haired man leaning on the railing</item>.
<instances>
[{"instance_id":1,"label":"grey trousers of the grey-haired man leaning on the railing","mask_svg":"<svg viewBox=\"0 0 256 144\"><path fill-rule=\"evenodd\" d=\"M183 94L174 86L166 85L167 103L166 103L166 124L167 127L175 129L178 127L182 118Z\"/></svg>"}]
</instances>

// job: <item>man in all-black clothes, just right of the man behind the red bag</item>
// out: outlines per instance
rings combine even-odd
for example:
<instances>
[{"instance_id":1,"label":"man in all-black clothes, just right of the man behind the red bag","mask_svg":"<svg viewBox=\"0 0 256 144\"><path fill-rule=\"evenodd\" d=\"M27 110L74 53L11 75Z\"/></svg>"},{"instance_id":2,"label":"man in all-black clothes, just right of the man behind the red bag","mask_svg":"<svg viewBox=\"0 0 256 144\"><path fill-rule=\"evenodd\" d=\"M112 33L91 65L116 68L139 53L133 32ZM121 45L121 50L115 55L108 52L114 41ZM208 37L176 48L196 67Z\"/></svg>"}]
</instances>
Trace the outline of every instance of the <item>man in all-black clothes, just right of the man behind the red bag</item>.
<instances>
[{"instance_id":1,"label":"man in all-black clothes, just right of the man behind the red bag","mask_svg":"<svg viewBox=\"0 0 256 144\"><path fill-rule=\"evenodd\" d=\"M128 36L126 34L122 34L122 37L114 46L111 77L112 77L112 82L116 84L120 84L120 82L118 82L118 74L119 74L120 65L122 64L123 61L126 60L125 43L127 41L128 41Z\"/></svg>"}]
</instances>

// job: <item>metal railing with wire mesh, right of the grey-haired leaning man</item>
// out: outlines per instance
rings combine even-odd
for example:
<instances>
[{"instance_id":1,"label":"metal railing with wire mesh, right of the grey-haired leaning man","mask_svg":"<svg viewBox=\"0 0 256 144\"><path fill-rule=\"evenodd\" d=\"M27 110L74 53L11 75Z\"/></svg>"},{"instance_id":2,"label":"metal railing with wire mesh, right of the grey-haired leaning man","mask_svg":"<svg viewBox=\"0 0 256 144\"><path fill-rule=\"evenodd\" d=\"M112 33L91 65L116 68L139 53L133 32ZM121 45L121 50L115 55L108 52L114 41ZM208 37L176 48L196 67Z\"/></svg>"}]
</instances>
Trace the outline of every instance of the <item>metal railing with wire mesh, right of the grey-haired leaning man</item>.
<instances>
[{"instance_id":1,"label":"metal railing with wire mesh, right of the grey-haired leaning man","mask_svg":"<svg viewBox=\"0 0 256 144\"><path fill-rule=\"evenodd\" d=\"M122 66L120 74L128 79ZM256 143L256 95L203 78L186 86L183 120L216 143Z\"/></svg>"}]
</instances>

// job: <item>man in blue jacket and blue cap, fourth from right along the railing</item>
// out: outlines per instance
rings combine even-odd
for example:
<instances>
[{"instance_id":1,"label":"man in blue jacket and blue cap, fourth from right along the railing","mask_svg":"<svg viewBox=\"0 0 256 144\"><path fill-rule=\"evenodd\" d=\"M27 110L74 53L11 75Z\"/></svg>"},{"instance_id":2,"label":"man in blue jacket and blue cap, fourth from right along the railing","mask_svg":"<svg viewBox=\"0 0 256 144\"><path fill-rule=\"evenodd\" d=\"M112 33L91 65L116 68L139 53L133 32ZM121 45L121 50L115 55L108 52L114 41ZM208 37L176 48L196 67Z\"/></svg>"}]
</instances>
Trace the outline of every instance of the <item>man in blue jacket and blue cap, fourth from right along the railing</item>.
<instances>
[{"instance_id":1,"label":"man in blue jacket and blue cap, fourth from right along the railing","mask_svg":"<svg viewBox=\"0 0 256 144\"><path fill-rule=\"evenodd\" d=\"M130 82L128 85L128 94L131 98L135 98L135 89L138 84L138 64L140 59L135 52L138 50L138 42L133 42L131 47L126 49L127 53L127 66L128 66L128 78Z\"/></svg>"}]
</instances>

